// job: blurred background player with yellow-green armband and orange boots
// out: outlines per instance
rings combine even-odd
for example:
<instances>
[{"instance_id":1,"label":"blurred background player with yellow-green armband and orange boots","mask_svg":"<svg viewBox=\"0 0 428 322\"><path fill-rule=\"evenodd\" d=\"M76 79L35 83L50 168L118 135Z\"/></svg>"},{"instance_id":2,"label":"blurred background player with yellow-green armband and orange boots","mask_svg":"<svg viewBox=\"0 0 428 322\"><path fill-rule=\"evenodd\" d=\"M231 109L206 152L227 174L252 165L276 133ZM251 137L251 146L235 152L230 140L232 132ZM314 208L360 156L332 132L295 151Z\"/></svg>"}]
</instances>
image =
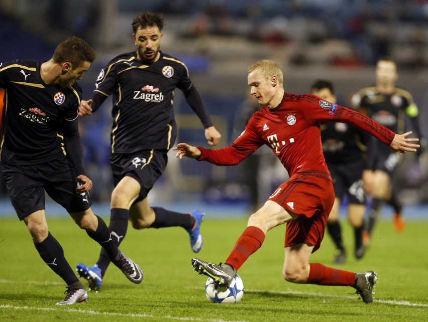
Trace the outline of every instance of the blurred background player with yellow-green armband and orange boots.
<instances>
[{"instance_id":1,"label":"blurred background player with yellow-green armband and orange boots","mask_svg":"<svg viewBox=\"0 0 428 322\"><path fill-rule=\"evenodd\" d=\"M398 79L397 66L393 60L384 57L376 64L376 85L358 91L352 97L355 108L394 132L404 132L406 121L421 137L417 121L418 108L411 94L395 86ZM424 139L421 139L421 141ZM421 144L422 147L424 144ZM401 215L402 205L391 185L394 170L401 161L401 154L391 151L384 144L370 138L367 144L368 162L363 172L364 188L372 198L368 210L368 223L363 232L364 243L369 244L372 231L384 202L394 209L393 223L397 232L404 229Z\"/></svg>"}]
</instances>

